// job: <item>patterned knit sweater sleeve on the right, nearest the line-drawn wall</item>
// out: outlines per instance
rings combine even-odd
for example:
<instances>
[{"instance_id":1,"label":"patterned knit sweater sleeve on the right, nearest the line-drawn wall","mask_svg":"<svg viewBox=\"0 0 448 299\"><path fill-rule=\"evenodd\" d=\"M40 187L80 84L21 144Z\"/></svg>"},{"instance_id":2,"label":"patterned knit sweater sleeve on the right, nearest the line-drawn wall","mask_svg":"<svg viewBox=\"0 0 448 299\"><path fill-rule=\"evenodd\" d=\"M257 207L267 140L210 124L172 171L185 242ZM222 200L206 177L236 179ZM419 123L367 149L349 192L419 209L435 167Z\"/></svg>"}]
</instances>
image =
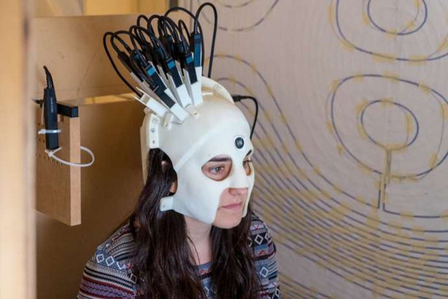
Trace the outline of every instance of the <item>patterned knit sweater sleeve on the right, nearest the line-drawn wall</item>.
<instances>
[{"instance_id":1,"label":"patterned knit sweater sleeve on the right, nearest the line-drawn wall","mask_svg":"<svg viewBox=\"0 0 448 299\"><path fill-rule=\"evenodd\" d=\"M266 224L255 214L250 227L250 245L255 254L255 268L260 279L261 299L279 299L276 248Z\"/></svg>"}]
</instances>

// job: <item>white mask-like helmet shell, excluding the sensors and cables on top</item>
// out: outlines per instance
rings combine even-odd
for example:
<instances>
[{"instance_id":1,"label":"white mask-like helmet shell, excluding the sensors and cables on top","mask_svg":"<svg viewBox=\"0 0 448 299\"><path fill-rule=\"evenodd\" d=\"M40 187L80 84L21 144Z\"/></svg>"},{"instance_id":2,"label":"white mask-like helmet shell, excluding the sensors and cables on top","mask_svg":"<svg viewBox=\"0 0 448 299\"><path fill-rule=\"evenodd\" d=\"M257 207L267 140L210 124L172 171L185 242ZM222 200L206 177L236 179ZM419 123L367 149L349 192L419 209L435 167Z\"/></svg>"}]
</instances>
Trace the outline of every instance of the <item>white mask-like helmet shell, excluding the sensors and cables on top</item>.
<instances>
[{"instance_id":1,"label":"white mask-like helmet shell, excluding the sensors and cables on top","mask_svg":"<svg viewBox=\"0 0 448 299\"><path fill-rule=\"evenodd\" d=\"M149 149L162 149L177 172L177 191L162 198L160 210L175 210L205 223L212 223L226 188L248 188L242 217L254 184L254 169L246 174L243 160L253 146L250 127L243 113L235 106L228 91L219 83L202 78L202 101L187 107L190 115L182 122L170 112L157 115L147 110L142 127L141 153L143 176L147 174ZM202 172L202 166L218 155L231 159L231 170L221 181Z\"/></svg>"}]
</instances>

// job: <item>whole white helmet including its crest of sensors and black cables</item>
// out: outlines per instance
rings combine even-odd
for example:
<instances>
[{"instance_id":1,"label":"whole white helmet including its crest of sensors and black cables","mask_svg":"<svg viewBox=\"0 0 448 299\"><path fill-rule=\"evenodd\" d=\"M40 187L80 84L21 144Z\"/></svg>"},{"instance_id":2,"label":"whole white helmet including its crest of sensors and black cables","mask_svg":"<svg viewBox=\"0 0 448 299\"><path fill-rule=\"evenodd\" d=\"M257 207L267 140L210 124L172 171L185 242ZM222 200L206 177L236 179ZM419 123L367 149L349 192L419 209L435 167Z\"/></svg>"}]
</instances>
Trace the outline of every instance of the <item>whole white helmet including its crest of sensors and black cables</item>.
<instances>
[{"instance_id":1,"label":"whole white helmet including its crest of sensors and black cables","mask_svg":"<svg viewBox=\"0 0 448 299\"><path fill-rule=\"evenodd\" d=\"M140 128L143 178L147 177L150 149L163 150L177 173L176 193L161 199L160 210L175 210L213 223L226 188L248 188L241 216L246 215L254 169L249 163L250 173L247 174L243 166L246 155L253 152L249 124L227 90L209 79L216 25L208 63L209 78L202 76L205 45L199 16L207 5L216 11L216 7L207 2L196 14L189 12L194 19L191 32L169 17L176 10L185 12L185 8L172 7L164 16L139 15L137 24L129 30L106 32L103 44L115 72L137 95L134 98L146 107ZM148 22L145 27L140 26L142 17ZM153 20L157 21L157 31L152 27ZM217 23L217 19L215 21ZM116 68L108 40L138 87L132 87ZM231 159L230 172L220 181L202 172L202 166L218 155Z\"/></svg>"}]
</instances>

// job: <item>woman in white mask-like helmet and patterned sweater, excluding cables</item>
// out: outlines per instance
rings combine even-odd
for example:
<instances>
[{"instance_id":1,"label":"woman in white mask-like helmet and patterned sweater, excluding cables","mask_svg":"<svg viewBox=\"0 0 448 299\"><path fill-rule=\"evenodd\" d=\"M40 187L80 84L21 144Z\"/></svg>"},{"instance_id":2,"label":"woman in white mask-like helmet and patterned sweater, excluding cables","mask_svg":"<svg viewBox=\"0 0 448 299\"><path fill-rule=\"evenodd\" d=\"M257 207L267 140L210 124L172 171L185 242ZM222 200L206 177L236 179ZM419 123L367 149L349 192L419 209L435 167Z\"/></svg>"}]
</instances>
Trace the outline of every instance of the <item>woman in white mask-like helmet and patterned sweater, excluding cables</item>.
<instances>
[{"instance_id":1,"label":"woman in white mask-like helmet and patterned sweater, excluding cables","mask_svg":"<svg viewBox=\"0 0 448 299\"><path fill-rule=\"evenodd\" d=\"M275 245L249 204L249 125L224 87L203 80L195 117L146 116L145 186L88 261L78 299L280 298Z\"/></svg>"}]
</instances>

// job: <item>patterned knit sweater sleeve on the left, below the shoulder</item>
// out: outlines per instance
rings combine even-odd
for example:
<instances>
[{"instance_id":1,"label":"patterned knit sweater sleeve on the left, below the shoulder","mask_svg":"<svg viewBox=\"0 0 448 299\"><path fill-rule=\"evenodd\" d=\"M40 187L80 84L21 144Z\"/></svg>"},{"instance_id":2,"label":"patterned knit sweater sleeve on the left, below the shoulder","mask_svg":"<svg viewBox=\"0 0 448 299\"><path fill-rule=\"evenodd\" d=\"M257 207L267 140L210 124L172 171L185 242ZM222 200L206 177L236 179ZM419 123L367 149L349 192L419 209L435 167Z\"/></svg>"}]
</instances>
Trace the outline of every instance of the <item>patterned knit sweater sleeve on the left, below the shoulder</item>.
<instances>
[{"instance_id":1,"label":"patterned knit sweater sleeve on the left, below the shoulder","mask_svg":"<svg viewBox=\"0 0 448 299\"><path fill-rule=\"evenodd\" d=\"M135 298L136 277L127 268L99 247L84 268L76 298Z\"/></svg>"}]
</instances>

